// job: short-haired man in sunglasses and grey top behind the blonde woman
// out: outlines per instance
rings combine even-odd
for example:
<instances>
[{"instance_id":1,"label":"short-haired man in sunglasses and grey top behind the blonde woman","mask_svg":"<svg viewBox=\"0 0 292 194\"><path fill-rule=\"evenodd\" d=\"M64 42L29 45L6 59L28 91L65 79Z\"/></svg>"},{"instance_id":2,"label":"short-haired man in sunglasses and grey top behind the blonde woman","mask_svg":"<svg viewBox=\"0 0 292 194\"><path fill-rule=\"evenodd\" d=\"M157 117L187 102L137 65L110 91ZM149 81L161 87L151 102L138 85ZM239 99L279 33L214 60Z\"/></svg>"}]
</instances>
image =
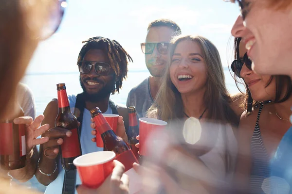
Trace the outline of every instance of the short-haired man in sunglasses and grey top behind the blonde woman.
<instances>
[{"instance_id":1,"label":"short-haired man in sunglasses and grey top behind the blonde woman","mask_svg":"<svg viewBox=\"0 0 292 194\"><path fill-rule=\"evenodd\" d=\"M168 19L157 19L148 25L146 42L141 44L141 49L145 54L145 63L151 76L131 89L127 99L128 107L136 107L138 118L145 117L146 111L154 102L160 78L168 63L169 42L178 34L181 34L181 28Z\"/></svg>"}]
</instances>

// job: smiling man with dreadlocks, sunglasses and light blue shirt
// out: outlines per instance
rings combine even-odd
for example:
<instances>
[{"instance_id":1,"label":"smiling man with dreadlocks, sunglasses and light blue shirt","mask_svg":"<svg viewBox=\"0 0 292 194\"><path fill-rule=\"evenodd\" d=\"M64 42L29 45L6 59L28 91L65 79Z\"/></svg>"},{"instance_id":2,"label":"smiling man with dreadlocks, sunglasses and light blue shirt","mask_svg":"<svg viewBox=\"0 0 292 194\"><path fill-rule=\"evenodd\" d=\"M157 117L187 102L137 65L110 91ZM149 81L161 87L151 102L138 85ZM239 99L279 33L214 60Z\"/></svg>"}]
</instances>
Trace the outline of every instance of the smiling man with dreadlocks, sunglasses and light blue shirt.
<instances>
[{"instance_id":1,"label":"smiling man with dreadlocks, sunglasses and light blue shirt","mask_svg":"<svg viewBox=\"0 0 292 194\"><path fill-rule=\"evenodd\" d=\"M110 100L110 94L115 94L121 89L123 80L127 77L128 62L132 59L115 40L98 36L82 43L85 44L78 55L77 65L83 93L77 96L68 96L68 98L72 112L80 122L82 154L87 154L103 150L103 146L97 147L91 142L91 109L99 107L103 113L122 115L126 129L128 127L127 107L115 105ZM55 126L57 113L57 99L53 99L44 111L43 124L48 123L51 127ZM119 117L117 135L128 141L122 116ZM73 194L76 193L75 184L81 184L78 173L63 170L60 159L57 157L59 145L63 143L62 138L66 135L71 135L70 131L66 129L43 134L43 136L48 136L50 140L40 146L36 177L40 183L48 185L46 194Z\"/></svg>"}]
</instances>

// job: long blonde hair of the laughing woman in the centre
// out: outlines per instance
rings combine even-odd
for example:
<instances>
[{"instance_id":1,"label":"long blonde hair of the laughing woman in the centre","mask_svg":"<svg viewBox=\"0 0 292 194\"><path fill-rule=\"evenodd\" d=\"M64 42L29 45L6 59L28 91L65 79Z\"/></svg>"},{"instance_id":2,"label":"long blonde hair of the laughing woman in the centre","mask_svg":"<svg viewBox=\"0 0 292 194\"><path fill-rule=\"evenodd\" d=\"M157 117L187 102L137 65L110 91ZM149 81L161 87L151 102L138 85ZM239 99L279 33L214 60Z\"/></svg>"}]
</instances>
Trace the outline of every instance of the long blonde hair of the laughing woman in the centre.
<instances>
[{"instance_id":1,"label":"long blonde hair of the laughing woman in the centre","mask_svg":"<svg viewBox=\"0 0 292 194\"><path fill-rule=\"evenodd\" d=\"M169 74L172 55L176 46L182 41L197 43L203 54L207 69L206 92L204 94L204 104L208 111L206 118L237 125L237 116L229 105L231 98L225 87L219 51L211 41L199 35L179 35L171 40L168 65L164 71L155 103L148 110L148 116L157 117L168 122L184 116L181 94L173 85Z\"/></svg>"}]
</instances>

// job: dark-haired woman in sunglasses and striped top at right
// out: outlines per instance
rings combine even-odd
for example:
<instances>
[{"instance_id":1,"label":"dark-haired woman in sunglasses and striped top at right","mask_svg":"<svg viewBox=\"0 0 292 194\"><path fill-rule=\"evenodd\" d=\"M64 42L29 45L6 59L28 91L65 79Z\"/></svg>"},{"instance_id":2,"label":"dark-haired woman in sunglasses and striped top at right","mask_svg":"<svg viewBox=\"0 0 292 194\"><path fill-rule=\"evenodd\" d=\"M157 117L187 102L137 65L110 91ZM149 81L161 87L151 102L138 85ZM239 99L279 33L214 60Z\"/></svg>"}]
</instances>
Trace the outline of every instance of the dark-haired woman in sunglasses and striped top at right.
<instances>
[{"instance_id":1,"label":"dark-haired woman in sunglasses and striped top at right","mask_svg":"<svg viewBox=\"0 0 292 194\"><path fill-rule=\"evenodd\" d=\"M239 123L237 178L251 193L270 191L269 161L290 126L288 119L277 114L277 106L292 101L289 76L256 74L246 55L241 38L235 38L235 61L231 65L236 83L246 86L246 112Z\"/></svg>"}]
</instances>

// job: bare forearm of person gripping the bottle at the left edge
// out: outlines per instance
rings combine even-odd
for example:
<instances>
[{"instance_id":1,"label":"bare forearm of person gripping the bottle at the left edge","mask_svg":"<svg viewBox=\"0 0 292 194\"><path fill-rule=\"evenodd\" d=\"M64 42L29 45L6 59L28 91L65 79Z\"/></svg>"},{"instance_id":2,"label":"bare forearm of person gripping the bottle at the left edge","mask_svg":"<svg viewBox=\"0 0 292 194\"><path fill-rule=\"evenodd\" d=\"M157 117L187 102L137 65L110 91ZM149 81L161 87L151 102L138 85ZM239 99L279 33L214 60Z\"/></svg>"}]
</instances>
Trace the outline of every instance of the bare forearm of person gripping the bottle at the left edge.
<instances>
[{"instance_id":1,"label":"bare forearm of person gripping the bottle at the left edge","mask_svg":"<svg viewBox=\"0 0 292 194\"><path fill-rule=\"evenodd\" d=\"M23 168L17 170L11 170L9 174L19 180L20 182L26 182L31 179L37 169L38 152L36 146L26 155L26 164Z\"/></svg>"}]
</instances>

